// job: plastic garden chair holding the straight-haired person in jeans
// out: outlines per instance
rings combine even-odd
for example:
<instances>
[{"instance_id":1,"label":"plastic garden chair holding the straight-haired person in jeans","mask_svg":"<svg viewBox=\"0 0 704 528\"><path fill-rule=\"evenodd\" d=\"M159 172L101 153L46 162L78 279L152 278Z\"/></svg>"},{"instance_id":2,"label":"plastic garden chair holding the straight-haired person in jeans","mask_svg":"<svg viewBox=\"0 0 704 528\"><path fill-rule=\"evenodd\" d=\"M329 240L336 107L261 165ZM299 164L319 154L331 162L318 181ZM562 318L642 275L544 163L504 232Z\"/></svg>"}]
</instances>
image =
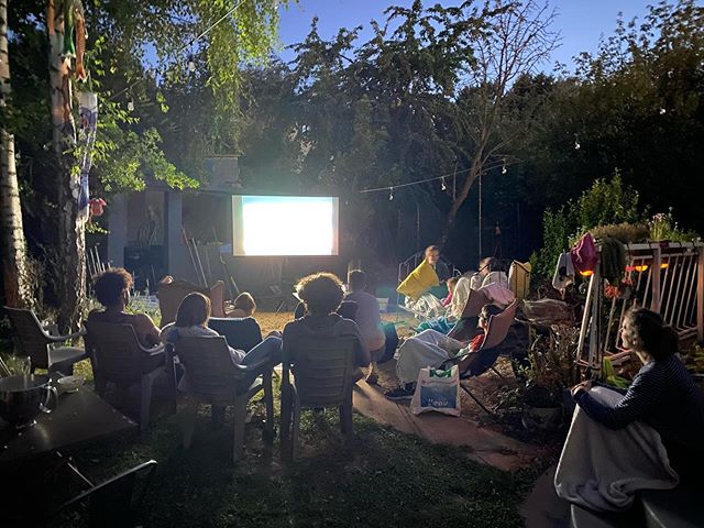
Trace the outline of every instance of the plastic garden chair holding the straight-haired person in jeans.
<instances>
[{"instance_id":1,"label":"plastic garden chair holding the straight-haired person in jeans","mask_svg":"<svg viewBox=\"0 0 704 528\"><path fill-rule=\"evenodd\" d=\"M251 365L239 365L232 361L228 342L221 336L182 337L175 345L178 361L186 371L188 392L194 396L189 403L188 419L184 431L184 448L188 449L194 433L198 400L210 404L213 421L224 416L224 408L234 407L234 443L232 460L238 462L243 454L246 404L264 389L266 403L265 438L273 439L274 399L270 359Z\"/></svg>"}]
</instances>

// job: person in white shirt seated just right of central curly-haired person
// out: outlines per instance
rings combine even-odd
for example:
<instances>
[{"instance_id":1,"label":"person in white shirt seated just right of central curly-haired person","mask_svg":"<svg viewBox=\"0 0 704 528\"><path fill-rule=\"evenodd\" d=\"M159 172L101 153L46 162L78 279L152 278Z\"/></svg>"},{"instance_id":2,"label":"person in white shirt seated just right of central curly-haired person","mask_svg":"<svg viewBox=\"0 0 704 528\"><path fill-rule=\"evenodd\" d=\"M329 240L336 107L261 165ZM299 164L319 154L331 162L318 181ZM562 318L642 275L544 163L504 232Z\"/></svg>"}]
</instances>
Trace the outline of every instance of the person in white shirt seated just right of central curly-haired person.
<instances>
[{"instance_id":1,"label":"person in white shirt seated just right of central curly-haired person","mask_svg":"<svg viewBox=\"0 0 704 528\"><path fill-rule=\"evenodd\" d=\"M353 300L358 304L354 321L360 328L362 342L372 360L372 367L366 376L366 383L376 384L378 381L376 362L384 353L386 344L378 301L376 297L364 290L366 288L366 274L361 270L353 270L348 274L348 287L350 293L344 300Z\"/></svg>"}]
</instances>

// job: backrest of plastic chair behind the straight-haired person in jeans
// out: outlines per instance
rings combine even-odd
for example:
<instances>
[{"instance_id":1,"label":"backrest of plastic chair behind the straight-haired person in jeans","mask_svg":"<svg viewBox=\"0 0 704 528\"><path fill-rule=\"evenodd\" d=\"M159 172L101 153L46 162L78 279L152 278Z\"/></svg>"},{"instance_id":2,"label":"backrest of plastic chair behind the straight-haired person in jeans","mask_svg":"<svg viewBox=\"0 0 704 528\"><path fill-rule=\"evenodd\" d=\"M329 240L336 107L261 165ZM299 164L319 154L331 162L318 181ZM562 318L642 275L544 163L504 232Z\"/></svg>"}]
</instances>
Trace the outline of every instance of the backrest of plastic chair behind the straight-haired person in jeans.
<instances>
[{"instance_id":1,"label":"backrest of plastic chair behind the straight-haired person in jeans","mask_svg":"<svg viewBox=\"0 0 704 528\"><path fill-rule=\"evenodd\" d=\"M232 363L222 336L180 337L175 350L186 370L190 391L211 402L234 398L240 388L238 381L244 377Z\"/></svg>"}]
</instances>

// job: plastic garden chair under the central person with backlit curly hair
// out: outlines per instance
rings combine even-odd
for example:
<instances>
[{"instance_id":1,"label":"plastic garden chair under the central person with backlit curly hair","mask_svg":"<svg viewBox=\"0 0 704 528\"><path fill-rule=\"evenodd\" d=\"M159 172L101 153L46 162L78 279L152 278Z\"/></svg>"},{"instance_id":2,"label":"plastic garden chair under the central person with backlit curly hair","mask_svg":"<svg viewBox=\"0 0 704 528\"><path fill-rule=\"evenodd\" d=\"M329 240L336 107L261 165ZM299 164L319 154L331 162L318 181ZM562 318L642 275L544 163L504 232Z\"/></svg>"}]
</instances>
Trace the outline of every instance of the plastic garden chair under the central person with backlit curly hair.
<instances>
[{"instance_id":1,"label":"plastic garden chair under the central person with backlit curly hair","mask_svg":"<svg viewBox=\"0 0 704 528\"><path fill-rule=\"evenodd\" d=\"M352 437L352 389L358 380L353 337L316 337L294 348L284 342L282 374L282 451L284 458L298 454L300 411L338 407L340 428ZM290 372L294 381L290 381Z\"/></svg>"}]
</instances>

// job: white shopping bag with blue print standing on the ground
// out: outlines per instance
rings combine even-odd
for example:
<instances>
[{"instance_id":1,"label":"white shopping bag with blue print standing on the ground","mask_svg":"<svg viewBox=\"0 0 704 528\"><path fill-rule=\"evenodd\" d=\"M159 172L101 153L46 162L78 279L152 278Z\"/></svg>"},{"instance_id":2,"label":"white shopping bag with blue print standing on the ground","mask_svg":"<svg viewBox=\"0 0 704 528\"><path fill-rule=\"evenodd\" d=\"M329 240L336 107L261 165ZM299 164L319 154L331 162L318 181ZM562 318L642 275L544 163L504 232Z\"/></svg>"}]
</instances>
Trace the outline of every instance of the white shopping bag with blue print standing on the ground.
<instances>
[{"instance_id":1,"label":"white shopping bag with blue print standing on the ground","mask_svg":"<svg viewBox=\"0 0 704 528\"><path fill-rule=\"evenodd\" d=\"M448 370L420 370L410 411L420 415L429 410L460 416L460 374L457 365Z\"/></svg>"}]
</instances>

